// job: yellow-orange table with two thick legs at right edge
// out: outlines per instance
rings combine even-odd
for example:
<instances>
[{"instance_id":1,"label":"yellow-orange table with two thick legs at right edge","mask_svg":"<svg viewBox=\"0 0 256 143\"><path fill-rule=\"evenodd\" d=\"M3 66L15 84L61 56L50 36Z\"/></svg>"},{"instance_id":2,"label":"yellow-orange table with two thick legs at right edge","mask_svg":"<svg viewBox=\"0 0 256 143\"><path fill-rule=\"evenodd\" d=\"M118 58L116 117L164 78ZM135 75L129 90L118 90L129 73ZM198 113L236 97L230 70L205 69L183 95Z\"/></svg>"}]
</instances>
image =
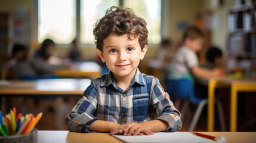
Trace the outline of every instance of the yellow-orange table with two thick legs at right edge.
<instances>
[{"instance_id":1,"label":"yellow-orange table with two thick legs at right edge","mask_svg":"<svg viewBox=\"0 0 256 143\"><path fill-rule=\"evenodd\" d=\"M238 92L256 92L256 77L218 77L209 78L208 81L208 132L214 131L214 99L215 88L220 86L230 87L230 131L236 132Z\"/></svg>"}]
</instances>

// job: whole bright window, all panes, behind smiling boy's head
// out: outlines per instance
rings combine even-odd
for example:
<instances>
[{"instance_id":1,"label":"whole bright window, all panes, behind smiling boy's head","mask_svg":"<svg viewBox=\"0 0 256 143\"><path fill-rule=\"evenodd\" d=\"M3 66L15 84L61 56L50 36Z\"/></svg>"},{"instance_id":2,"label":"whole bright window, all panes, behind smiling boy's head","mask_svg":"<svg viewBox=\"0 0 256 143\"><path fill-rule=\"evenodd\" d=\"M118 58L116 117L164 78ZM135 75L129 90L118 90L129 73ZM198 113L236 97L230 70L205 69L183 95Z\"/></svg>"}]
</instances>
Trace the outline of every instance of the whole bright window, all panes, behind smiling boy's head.
<instances>
[{"instance_id":1,"label":"whole bright window, all panes, behind smiling boy's head","mask_svg":"<svg viewBox=\"0 0 256 143\"><path fill-rule=\"evenodd\" d=\"M161 0L38 0L38 42L51 38L55 43L69 44L78 38L82 44L93 44L94 23L107 8L120 4L147 21L149 43L161 41Z\"/></svg>"}]
</instances>

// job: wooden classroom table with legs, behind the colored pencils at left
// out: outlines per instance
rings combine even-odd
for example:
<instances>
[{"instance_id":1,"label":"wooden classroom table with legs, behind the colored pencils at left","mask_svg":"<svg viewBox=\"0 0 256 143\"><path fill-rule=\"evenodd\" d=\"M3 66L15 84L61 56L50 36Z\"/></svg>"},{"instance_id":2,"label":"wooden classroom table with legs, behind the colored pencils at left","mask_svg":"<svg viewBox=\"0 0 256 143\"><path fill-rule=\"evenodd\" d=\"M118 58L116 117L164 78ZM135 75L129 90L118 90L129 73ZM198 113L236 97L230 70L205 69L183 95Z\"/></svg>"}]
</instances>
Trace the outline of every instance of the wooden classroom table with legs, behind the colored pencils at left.
<instances>
[{"instance_id":1,"label":"wooden classroom table with legs, behind the colored pencils at left","mask_svg":"<svg viewBox=\"0 0 256 143\"><path fill-rule=\"evenodd\" d=\"M4 113L6 97L55 97L58 129L63 129L63 97L81 97L90 85L90 79L0 80L1 111ZM26 104L25 104L26 105Z\"/></svg>"}]
</instances>

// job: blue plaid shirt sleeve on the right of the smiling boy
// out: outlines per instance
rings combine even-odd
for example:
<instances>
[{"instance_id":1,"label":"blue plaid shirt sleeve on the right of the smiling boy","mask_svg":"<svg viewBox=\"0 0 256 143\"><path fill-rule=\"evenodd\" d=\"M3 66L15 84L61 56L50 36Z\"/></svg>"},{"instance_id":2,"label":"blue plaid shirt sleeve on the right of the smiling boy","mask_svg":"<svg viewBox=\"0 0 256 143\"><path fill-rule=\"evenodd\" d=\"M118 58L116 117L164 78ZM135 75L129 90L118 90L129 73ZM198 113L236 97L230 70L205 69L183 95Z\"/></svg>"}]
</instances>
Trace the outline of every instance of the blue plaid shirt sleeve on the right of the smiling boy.
<instances>
[{"instance_id":1,"label":"blue plaid shirt sleeve on the right of the smiling boy","mask_svg":"<svg viewBox=\"0 0 256 143\"><path fill-rule=\"evenodd\" d=\"M168 123L167 130L180 130L182 127L180 111L174 107L168 93L164 92L159 80L155 77L152 81L151 93L151 102L156 113L156 119L165 120Z\"/></svg>"}]
</instances>

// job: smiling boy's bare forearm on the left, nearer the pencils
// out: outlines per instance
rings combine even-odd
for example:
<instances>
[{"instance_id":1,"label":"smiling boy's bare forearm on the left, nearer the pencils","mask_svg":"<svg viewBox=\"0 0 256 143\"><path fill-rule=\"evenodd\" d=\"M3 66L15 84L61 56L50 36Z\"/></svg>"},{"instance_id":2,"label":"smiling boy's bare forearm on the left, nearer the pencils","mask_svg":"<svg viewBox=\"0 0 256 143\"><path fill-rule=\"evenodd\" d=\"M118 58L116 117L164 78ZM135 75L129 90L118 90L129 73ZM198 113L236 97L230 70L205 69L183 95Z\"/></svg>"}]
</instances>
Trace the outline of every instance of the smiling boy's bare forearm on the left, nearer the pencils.
<instances>
[{"instance_id":1,"label":"smiling boy's bare forearm on the left, nearer the pencils","mask_svg":"<svg viewBox=\"0 0 256 143\"><path fill-rule=\"evenodd\" d=\"M118 123L105 121L105 120L95 120L88 127L90 131L98 131L98 132L110 132L112 128L116 126L120 126Z\"/></svg>"}]
</instances>

